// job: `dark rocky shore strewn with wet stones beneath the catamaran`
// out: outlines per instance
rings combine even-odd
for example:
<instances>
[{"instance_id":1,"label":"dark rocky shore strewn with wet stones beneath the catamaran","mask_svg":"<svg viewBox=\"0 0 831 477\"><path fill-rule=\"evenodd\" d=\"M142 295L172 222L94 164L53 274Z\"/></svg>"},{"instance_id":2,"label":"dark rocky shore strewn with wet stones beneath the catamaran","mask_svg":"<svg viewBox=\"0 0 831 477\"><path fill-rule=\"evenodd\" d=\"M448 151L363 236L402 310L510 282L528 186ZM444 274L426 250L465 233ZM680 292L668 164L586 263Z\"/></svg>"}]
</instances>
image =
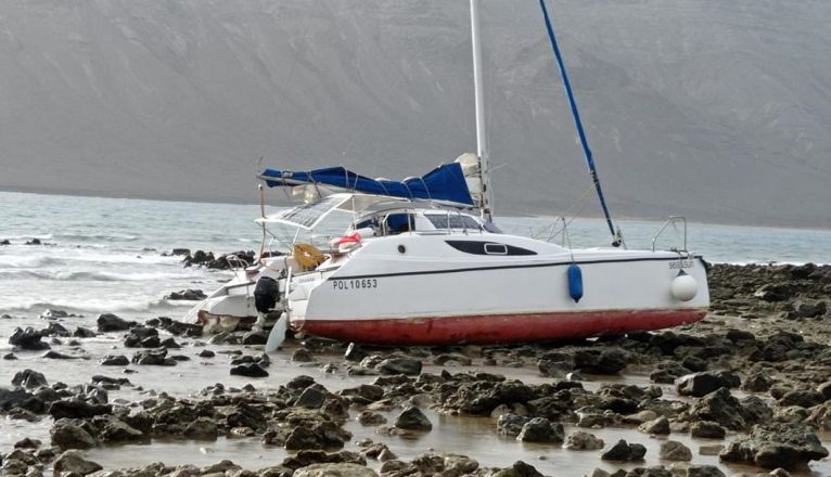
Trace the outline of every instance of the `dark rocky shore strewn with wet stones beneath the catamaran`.
<instances>
[{"instance_id":1,"label":"dark rocky shore strewn with wet stones beneath the catamaran","mask_svg":"<svg viewBox=\"0 0 831 477\"><path fill-rule=\"evenodd\" d=\"M137 323L113 314L98 317L92 330L53 312L43 317L46 326L10 336L15 350L3 357L4 366L37 352L94 360L101 372L64 384L60 375L21 366L11 386L0 387L4 418L50 423L49 441L24 438L0 449L2 474L552 475L538 470L538 462L512 459L511 441L536 446L540 461L565 449L573 459L602 462L591 477L781 477L811 475L817 465L831 469L831 267L715 265L709 280L711 313L681 328L488 347L380 349L308 338L281 351L291 350L282 359L296 372L279 383L269 382L277 357L261 353L261 332L203 337L192 323ZM104 356L84 351L102 335L117 336L120 345ZM176 370L191 360L251 378L244 386L201 386L187 397L139 384L145 366ZM535 378L515 378L529 374ZM346 386L328 388L322 376L340 376ZM135 398L123 397L127 389ZM438 433L436 416L485 423L506 442L503 463L486 466L449 448L396 455L393 442ZM356 425L368 430L365 437L356 436ZM606 429L621 429L625 438L604 440ZM228 460L167 466L151 459L151 442L163 439L247 439L264 454L280 449L286 456L264 466ZM652 441L660 442L659 464L643 465L653 452L644 443ZM85 453L125 443L150 443L146 464L104 470ZM719 465L703 463L713 455Z\"/></svg>"}]
</instances>

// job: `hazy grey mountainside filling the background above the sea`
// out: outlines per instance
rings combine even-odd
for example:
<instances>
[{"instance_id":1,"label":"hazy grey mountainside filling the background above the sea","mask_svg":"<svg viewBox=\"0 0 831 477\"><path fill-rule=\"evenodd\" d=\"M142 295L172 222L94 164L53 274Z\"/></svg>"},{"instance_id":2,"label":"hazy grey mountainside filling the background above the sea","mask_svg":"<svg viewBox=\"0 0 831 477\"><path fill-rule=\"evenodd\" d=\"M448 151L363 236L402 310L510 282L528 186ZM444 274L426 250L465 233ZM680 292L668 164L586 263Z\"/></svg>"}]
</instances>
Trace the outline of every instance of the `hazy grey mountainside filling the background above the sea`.
<instances>
[{"instance_id":1,"label":"hazy grey mountainside filling the background above the sea","mask_svg":"<svg viewBox=\"0 0 831 477\"><path fill-rule=\"evenodd\" d=\"M613 212L831 225L831 3L550 1ZM535 1L483 1L496 208L590 186ZM0 188L255 201L475 149L464 0L0 5ZM571 212L597 214L595 197Z\"/></svg>"}]
</instances>

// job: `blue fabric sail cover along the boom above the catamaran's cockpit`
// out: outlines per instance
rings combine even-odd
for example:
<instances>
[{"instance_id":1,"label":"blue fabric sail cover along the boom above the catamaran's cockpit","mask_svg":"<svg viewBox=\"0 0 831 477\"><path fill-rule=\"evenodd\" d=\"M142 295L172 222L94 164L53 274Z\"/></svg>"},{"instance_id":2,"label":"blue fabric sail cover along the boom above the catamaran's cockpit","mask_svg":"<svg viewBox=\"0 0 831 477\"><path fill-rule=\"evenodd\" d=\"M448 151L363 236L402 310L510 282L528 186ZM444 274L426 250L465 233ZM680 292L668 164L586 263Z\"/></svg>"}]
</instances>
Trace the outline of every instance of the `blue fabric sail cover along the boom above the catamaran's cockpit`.
<instances>
[{"instance_id":1,"label":"blue fabric sail cover along the boom above the catamaran's cockpit","mask_svg":"<svg viewBox=\"0 0 831 477\"><path fill-rule=\"evenodd\" d=\"M265 180L269 188L323 184L365 194L473 205L462 167L458 163L444 164L422 177L408 178L401 182L370 179L343 167L329 167L308 172L266 169L259 178Z\"/></svg>"}]
</instances>

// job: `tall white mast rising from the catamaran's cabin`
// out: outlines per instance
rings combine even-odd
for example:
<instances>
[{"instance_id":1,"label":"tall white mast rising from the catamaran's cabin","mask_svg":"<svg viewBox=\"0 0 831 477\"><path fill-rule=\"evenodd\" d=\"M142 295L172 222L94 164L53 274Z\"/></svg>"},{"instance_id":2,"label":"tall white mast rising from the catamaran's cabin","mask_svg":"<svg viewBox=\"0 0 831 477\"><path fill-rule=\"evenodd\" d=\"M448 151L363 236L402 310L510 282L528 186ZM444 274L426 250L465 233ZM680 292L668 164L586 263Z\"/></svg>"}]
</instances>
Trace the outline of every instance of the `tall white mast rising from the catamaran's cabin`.
<instances>
[{"instance_id":1,"label":"tall white mast rising from the catamaran's cabin","mask_svg":"<svg viewBox=\"0 0 831 477\"><path fill-rule=\"evenodd\" d=\"M490 192L490 169L488 168L478 0L471 0L471 44L473 46L473 91L476 103L476 156L480 159L480 180L482 181L480 210L482 218L490 222L493 221L494 196Z\"/></svg>"}]
</instances>

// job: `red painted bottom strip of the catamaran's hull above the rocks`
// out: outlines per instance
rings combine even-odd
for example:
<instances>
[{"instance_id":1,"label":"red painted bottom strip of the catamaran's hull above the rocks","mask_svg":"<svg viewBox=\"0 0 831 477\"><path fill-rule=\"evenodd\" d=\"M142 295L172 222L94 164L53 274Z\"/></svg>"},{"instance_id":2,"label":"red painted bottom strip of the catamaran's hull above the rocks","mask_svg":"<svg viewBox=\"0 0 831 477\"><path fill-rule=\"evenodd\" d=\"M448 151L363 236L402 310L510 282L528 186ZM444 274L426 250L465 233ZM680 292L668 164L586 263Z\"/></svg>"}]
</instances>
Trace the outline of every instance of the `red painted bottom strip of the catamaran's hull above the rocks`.
<instances>
[{"instance_id":1,"label":"red painted bottom strip of the catamaran's hull above the rocks","mask_svg":"<svg viewBox=\"0 0 831 477\"><path fill-rule=\"evenodd\" d=\"M315 336L378 345L494 345L660 330L696 322L704 314L705 310L687 309L298 320L292 321L292 327Z\"/></svg>"}]
</instances>

